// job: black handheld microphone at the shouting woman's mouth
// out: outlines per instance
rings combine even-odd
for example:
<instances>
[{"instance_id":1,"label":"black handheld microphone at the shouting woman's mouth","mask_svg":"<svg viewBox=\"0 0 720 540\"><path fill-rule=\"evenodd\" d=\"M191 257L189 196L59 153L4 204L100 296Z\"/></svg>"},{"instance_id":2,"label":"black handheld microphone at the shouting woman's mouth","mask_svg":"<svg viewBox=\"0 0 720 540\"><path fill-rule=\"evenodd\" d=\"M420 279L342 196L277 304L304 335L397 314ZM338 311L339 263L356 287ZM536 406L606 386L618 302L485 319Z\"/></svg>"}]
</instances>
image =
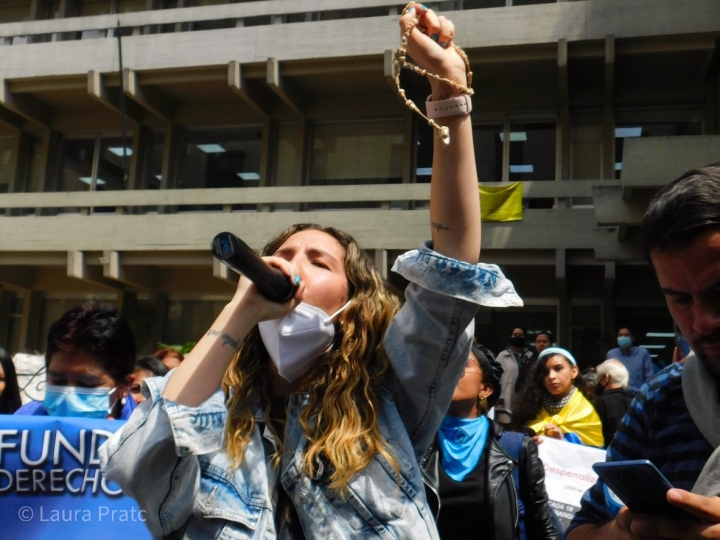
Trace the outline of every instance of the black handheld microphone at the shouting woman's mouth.
<instances>
[{"instance_id":1,"label":"black handheld microphone at the shouting woman's mouth","mask_svg":"<svg viewBox=\"0 0 720 540\"><path fill-rule=\"evenodd\" d=\"M260 255L233 233L216 235L210 249L216 259L252 281L268 300L284 304L295 296L297 287L290 278L263 261Z\"/></svg>"}]
</instances>

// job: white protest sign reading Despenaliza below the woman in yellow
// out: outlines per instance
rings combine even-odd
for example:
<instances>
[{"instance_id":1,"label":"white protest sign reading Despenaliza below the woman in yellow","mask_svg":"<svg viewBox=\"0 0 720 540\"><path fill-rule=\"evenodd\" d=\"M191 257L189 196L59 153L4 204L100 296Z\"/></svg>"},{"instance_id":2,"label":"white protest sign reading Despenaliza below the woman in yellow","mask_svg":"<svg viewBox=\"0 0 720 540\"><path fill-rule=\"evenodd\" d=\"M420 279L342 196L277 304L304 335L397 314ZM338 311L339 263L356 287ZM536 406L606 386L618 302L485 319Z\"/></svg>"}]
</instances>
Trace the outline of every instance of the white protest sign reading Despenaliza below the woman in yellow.
<instances>
[{"instance_id":1,"label":"white protest sign reading Despenaliza below the woman in yellow","mask_svg":"<svg viewBox=\"0 0 720 540\"><path fill-rule=\"evenodd\" d=\"M550 506L566 529L580 509L583 493L597 481L592 466L605 461L605 450L543 437L538 453Z\"/></svg>"}]
</instances>

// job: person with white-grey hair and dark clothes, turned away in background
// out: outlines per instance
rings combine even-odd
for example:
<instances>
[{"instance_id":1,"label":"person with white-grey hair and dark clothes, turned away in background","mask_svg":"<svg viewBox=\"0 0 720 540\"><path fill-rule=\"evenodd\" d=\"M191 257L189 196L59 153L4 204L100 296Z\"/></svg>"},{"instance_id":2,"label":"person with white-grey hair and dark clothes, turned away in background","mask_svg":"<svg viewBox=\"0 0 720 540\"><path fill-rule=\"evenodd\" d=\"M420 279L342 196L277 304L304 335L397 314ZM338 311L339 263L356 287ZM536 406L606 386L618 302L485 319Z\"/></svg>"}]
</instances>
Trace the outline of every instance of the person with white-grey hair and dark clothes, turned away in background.
<instances>
[{"instance_id":1,"label":"person with white-grey hair and dark clothes, turned away in background","mask_svg":"<svg viewBox=\"0 0 720 540\"><path fill-rule=\"evenodd\" d=\"M603 424L603 438L607 448L630 408L635 390L628 388L630 374L616 358L605 360L597 367L596 381L595 410Z\"/></svg>"}]
</instances>

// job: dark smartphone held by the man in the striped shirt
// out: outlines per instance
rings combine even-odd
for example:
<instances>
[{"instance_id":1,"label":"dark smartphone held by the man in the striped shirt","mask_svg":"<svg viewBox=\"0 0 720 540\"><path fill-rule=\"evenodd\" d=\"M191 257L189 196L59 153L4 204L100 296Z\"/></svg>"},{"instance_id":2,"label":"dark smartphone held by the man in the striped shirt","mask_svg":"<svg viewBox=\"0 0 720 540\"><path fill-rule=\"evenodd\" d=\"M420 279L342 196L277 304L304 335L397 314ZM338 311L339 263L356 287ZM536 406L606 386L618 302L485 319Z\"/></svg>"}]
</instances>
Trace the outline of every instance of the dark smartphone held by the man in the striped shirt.
<instances>
[{"instance_id":1,"label":"dark smartphone held by the man in the striped shirt","mask_svg":"<svg viewBox=\"0 0 720 540\"><path fill-rule=\"evenodd\" d=\"M668 502L667 492L673 486L647 459L596 463L593 470L633 512L698 519Z\"/></svg>"}]
</instances>

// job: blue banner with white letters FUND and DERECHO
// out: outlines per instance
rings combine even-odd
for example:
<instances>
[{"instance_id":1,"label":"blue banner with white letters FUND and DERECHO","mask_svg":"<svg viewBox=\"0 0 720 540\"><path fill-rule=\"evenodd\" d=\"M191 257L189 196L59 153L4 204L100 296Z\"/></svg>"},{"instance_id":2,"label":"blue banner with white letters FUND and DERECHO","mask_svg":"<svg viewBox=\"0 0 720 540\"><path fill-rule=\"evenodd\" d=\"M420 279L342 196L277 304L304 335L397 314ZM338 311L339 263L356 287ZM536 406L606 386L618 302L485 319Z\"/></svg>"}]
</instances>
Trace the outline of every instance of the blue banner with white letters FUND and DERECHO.
<instances>
[{"instance_id":1,"label":"blue banner with white letters FUND and DERECHO","mask_svg":"<svg viewBox=\"0 0 720 540\"><path fill-rule=\"evenodd\" d=\"M145 513L103 478L119 420L0 415L0 537L149 539Z\"/></svg>"}]
</instances>

